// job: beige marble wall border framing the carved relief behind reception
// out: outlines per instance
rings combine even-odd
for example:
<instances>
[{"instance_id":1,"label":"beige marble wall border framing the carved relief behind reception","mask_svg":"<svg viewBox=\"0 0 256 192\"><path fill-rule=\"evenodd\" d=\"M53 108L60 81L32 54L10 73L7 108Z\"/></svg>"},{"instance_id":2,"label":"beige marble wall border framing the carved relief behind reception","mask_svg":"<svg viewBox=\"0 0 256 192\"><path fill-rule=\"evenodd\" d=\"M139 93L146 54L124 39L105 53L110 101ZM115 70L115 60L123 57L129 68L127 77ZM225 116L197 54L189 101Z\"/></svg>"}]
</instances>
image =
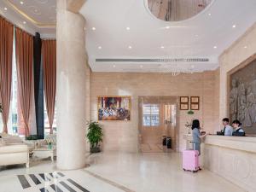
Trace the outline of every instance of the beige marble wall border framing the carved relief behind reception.
<instances>
[{"instance_id":1,"label":"beige marble wall border framing the carved relief behind reception","mask_svg":"<svg viewBox=\"0 0 256 192\"><path fill-rule=\"evenodd\" d=\"M226 49L219 57L220 64L220 118L228 117L227 104L227 74L233 68L239 66L241 62L246 61L248 57L256 53L256 23L250 27L241 38ZM247 48L245 48L245 46Z\"/></svg>"}]
</instances>

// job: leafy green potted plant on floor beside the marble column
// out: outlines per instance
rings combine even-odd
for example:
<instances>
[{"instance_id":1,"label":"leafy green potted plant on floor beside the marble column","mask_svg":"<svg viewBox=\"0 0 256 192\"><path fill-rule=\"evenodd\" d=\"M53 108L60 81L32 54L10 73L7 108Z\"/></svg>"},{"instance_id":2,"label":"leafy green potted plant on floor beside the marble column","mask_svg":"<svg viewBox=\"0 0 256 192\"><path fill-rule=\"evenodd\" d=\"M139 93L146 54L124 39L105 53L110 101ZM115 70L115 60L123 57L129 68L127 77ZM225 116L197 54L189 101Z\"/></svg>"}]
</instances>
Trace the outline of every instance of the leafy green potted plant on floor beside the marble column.
<instances>
[{"instance_id":1,"label":"leafy green potted plant on floor beside the marble column","mask_svg":"<svg viewBox=\"0 0 256 192\"><path fill-rule=\"evenodd\" d=\"M88 133L86 137L90 143L90 153L99 153L101 152L100 143L102 142L102 125L96 121L90 121L87 123Z\"/></svg>"}]
</instances>

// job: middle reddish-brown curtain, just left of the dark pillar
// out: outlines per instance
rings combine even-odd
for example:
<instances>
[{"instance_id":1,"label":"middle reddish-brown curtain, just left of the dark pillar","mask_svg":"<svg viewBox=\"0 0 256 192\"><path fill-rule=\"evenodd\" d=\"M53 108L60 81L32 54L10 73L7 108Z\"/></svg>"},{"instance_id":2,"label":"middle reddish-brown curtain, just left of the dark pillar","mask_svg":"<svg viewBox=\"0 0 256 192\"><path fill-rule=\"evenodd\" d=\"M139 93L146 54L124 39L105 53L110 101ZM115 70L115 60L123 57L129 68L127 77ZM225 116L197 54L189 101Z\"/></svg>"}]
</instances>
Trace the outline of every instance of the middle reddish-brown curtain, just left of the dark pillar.
<instances>
[{"instance_id":1,"label":"middle reddish-brown curtain, just left of the dark pillar","mask_svg":"<svg viewBox=\"0 0 256 192\"><path fill-rule=\"evenodd\" d=\"M30 34L15 28L15 50L17 61L18 96L25 124L25 136L29 136L29 119L32 105L33 38Z\"/></svg>"}]
</instances>

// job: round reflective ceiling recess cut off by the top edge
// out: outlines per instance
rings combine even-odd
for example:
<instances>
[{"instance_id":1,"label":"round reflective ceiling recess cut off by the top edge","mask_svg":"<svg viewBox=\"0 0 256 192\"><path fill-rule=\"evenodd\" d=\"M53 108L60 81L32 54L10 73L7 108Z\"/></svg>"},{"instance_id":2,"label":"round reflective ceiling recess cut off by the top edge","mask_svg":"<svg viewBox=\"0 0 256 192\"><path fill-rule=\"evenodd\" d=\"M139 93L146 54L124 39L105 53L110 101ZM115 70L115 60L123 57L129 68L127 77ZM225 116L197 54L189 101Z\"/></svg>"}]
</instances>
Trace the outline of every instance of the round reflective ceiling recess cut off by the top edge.
<instances>
[{"instance_id":1,"label":"round reflective ceiling recess cut off by the top edge","mask_svg":"<svg viewBox=\"0 0 256 192\"><path fill-rule=\"evenodd\" d=\"M165 21L187 20L212 3L213 0L145 0L151 14Z\"/></svg>"}]
</instances>

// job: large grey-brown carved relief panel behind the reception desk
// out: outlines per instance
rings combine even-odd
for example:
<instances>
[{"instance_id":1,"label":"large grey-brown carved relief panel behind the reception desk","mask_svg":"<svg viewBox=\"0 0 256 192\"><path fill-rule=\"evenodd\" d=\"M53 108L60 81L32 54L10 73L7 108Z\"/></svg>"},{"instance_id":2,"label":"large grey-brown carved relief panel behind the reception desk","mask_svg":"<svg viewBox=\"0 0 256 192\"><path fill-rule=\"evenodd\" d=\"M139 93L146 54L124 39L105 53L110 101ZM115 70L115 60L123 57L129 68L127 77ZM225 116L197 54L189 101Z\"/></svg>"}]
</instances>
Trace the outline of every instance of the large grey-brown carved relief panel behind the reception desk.
<instances>
[{"instance_id":1,"label":"large grey-brown carved relief panel behind the reception desk","mask_svg":"<svg viewBox=\"0 0 256 192\"><path fill-rule=\"evenodd\" d=\"M256 60L230 75L230 119L256 134Z\"/></svg>"}]
</instances>

